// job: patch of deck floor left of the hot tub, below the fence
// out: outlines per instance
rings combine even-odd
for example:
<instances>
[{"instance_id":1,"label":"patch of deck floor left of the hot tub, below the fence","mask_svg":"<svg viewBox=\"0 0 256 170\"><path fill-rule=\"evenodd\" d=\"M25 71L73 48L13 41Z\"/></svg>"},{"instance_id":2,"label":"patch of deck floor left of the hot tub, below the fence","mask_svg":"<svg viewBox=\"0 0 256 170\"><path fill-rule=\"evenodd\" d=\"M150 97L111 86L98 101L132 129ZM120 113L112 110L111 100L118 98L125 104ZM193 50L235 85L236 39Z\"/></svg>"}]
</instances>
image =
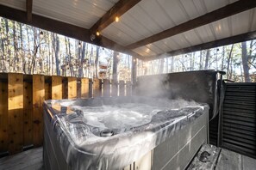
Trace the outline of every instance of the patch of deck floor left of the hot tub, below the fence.
<instances>
[{"instance_id":1,"label":"patch of deck floor left of the hot tub, below the fence","mask_svg":"<svg viewBox=\"0 0 256 170\"><path fill-rule=\"evenodd\" d=\"M0 159L0 169L4 170L43 170L42 147Z\"/></svg>"}]
</instances>

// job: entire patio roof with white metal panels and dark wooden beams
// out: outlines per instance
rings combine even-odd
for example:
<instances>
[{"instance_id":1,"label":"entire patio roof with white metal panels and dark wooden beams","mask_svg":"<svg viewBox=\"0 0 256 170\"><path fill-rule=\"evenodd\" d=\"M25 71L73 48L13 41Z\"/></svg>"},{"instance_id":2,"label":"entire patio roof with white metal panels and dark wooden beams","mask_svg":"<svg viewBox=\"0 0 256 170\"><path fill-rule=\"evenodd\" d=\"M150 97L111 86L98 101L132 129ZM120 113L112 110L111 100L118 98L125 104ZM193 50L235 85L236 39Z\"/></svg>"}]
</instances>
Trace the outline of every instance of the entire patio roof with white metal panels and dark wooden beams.
<instances>
[{"instance_id":1,"label":"entire patio roof with white metal panels and dark wooden beams","mask_svg":"<svg viewBox=\"0 0 256 170\"><path fill-rule=\"evenodd\" d=\"M255 0L0 0L0 15L145 60L256 38Z\"/></svg>"}]
</instances>

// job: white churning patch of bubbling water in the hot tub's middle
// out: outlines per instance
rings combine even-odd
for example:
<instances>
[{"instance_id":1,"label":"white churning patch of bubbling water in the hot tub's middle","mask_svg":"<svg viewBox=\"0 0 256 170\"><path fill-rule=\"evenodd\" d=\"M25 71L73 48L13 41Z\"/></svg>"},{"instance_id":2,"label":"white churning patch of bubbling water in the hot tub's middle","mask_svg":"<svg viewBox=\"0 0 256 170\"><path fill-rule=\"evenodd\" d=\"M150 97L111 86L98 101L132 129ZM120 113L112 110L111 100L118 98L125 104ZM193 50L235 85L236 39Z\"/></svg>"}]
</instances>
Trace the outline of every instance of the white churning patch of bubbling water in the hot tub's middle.
<instances>
[{"instance_id":1,"label":"white churning patch of bubbling water in the hot tub's middle","mask_svg":"<svg viewBox=\"0 0 256 170\"><path fill-rule=\"evenodd\" d=\"M153 115L165 109L139 103L103 106L73 106L84 114L85 124L108 129L127 129L147 124Z\"/></svg>"}]
</instances>

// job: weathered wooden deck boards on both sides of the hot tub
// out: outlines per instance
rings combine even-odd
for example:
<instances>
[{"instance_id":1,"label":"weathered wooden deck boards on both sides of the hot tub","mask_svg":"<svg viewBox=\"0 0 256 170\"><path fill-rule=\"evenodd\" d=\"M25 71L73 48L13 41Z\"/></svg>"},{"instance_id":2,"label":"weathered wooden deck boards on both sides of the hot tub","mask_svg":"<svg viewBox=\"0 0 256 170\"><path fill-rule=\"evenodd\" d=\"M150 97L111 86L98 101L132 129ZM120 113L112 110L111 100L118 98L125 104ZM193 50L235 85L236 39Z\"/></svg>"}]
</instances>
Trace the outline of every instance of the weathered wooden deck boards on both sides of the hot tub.
<instances>
[{"instance_id":1,"label":"weathered wooden deck boards on both sides of the hot tub","mask_svg":"<svg viewBox=\"0 0 256 170\"><path fill-rule=\"evenodd\" d=\"M205 146L205 145L204 145ZM207 148L207 147L205 147ZM256 160L244 155L237 154L227 149L207 148L201 149L197 155L198 160L201 159L203 151L215 153L209 159L204 161L204 165L197 167L198 163L193 162L188 169L210 169L210 170L253 170L256 169ZM219 152L219 154L217 154ZM197 161L197 156L195 158ZM194 161L195 161L194 160ZM215 161L214 161L215 160ZM215 163L216 162L216 163ZM42 148L30 149L17 155L6 156L0 159L0 169L4 170L43 170Z\"/></svg>"}]
</instances>

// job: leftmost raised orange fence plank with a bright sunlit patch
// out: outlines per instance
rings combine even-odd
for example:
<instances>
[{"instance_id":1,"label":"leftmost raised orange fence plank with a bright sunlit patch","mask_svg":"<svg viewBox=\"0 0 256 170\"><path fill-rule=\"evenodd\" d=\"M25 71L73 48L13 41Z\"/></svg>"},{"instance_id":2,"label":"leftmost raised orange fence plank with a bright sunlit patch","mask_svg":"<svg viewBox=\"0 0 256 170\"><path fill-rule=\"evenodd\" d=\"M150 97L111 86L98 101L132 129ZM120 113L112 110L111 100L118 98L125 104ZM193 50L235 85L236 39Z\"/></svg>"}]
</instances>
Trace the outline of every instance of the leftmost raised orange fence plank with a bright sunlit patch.
<instances>
[{"instance_id":1,"label":"leftmost raised orange fence plank with a bright sunlit patch","mask_svg":"<svg viewBox=\"0 0 256 170\"><path fill-rule=\"evenodd\" d=\"M8 75L9 153L23 147L23 75Z\"/></svg>"}]
</instances>

